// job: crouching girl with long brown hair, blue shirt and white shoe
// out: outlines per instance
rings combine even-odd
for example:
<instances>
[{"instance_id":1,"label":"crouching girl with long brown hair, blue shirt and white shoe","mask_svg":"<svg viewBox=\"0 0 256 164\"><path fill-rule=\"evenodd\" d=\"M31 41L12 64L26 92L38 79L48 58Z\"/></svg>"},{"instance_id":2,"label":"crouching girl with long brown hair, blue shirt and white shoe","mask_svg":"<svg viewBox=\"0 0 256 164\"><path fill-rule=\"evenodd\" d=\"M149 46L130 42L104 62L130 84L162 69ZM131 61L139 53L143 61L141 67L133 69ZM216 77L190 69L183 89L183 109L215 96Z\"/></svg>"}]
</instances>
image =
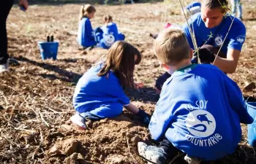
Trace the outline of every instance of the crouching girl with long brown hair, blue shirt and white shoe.
<instances>
[{"instance_id":1,"label":"crouching girl with long brown hair, blue shirt and white shoe","mask_svg":"<svg viewBox=\"0 0 256 164\"><path fill-rule=\"evenodd\" d=\"M107 60L92 66L79 79L73 96L77 113L70 120L80 128L87 128L87 119L116 117L124 106L148 125L150 116L132 105L123 90L124 87L134 87L133 71L140 60L140 52L132 44L115 42L108 50Z\"/></svg>"}]
</instances>

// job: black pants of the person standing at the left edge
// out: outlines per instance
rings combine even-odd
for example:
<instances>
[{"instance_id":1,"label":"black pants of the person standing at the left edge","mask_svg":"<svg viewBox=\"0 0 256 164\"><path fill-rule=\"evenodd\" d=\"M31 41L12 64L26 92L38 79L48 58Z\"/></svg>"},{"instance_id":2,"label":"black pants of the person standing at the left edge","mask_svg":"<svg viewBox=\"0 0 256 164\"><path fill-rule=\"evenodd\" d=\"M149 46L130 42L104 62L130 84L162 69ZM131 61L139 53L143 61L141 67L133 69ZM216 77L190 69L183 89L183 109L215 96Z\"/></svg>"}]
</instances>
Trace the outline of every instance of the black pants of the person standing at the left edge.
<instances>
[{"instance_id":1,"label":"black pants of the person standing at the left edge","mask_svg":"<svg viewBox=\"0 0 256 164\"><path fill-rule=\"evenodd\" d=\"M12 8L13 0L0 1L0 64L7 63L9 55L7 53L7 28L6 21Z\"/></svg>"}]
</instances>

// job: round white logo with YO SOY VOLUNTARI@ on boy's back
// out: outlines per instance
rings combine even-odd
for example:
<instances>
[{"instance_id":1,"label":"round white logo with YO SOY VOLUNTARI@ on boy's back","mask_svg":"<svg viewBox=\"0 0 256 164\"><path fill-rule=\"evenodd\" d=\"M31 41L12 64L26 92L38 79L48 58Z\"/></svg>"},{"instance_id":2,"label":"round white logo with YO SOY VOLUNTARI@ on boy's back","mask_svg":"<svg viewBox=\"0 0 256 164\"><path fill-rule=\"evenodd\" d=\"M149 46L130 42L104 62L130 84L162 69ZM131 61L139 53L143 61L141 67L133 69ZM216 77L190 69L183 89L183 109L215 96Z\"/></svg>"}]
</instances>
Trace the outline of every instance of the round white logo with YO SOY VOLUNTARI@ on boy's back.
<instances>
[{"instance_id":1,"label":"round white logo with YO SOY VOLUNTARI@ on boy's back","mask_svg":"<svg viewBox=\"0 0 256 164\"><path fill-rule=\"evenodd\" d=\"M200 147L211 147L222 139L216 130L214 116L206 111L208 101L196 101L195 106L187 104L185 108L189 111L185 120L189 133L185 136L187 141Z\"/></svg>"}]
</instances>

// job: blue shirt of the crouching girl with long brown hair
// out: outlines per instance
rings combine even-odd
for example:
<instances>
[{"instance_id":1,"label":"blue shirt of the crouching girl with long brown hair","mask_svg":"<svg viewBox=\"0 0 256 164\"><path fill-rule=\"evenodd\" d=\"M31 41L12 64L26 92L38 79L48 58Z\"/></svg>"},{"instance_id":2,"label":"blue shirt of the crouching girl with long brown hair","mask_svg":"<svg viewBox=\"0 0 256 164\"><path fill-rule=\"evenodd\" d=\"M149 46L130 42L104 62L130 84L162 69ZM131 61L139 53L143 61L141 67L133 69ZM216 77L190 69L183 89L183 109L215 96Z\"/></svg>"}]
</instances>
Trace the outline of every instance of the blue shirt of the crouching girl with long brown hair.
<instances>
[{"instance_id":1,"label":"blue shirt of the crouching girl with long brown hair","mask_svg":"<svg viewBox=\"0 0 256 164\"><path fill-rule=\"evenodd\" d=\"M104 106L115 106L115 104L126 106L129 104L129 98L124 94L119 79L112 71L109 72L108 77L97 75L103 64L92 66L79 79L73 96L73 104L77 112L91 112L103 118L115 117L121 113L122 107L109 110Z\"/></svg>"}]
</instances>

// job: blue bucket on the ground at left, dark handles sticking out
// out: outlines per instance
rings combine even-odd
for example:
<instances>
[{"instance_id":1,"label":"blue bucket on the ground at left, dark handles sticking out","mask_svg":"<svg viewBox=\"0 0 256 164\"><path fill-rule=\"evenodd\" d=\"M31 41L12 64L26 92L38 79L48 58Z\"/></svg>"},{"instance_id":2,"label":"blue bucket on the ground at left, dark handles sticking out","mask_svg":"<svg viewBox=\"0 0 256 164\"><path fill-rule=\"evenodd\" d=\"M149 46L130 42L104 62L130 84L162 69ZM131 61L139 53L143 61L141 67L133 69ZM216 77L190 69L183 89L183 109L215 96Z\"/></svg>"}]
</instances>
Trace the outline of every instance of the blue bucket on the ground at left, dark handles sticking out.
<instances>
[{"instance_id":1,"label":"blue bucket on the ground at left, dark handles sticking out","mask_svg":"<svg viewBox=\"0 0 256 164\"><path fill-rule=\"evenodd\" d=\"M38 42L42 60L53 58L57 59L59 42Z\"/></svg>"}]
</instances>

